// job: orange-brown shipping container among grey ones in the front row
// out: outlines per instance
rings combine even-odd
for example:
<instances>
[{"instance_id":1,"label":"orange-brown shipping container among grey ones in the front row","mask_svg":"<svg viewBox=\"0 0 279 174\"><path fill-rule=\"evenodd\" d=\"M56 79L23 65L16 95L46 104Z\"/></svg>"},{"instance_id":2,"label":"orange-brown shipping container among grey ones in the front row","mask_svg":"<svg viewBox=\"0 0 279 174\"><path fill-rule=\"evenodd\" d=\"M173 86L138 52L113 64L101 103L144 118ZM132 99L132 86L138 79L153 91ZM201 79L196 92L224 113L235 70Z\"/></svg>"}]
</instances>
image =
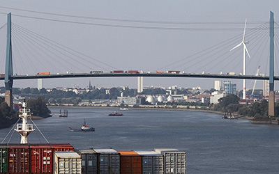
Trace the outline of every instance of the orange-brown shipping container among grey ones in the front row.
<instances>
[{"instance_id":1,"label":"orange-brown shipping container among grey ones in the front row","mask_svg":"<svg viewBox=\"0 0 279 174\"><path fill-rule=\"evenodd\" d=\"M142 157L134 151L118 151L120 153L121 174L142 174Z\"/></svg>"}]
</instances>

